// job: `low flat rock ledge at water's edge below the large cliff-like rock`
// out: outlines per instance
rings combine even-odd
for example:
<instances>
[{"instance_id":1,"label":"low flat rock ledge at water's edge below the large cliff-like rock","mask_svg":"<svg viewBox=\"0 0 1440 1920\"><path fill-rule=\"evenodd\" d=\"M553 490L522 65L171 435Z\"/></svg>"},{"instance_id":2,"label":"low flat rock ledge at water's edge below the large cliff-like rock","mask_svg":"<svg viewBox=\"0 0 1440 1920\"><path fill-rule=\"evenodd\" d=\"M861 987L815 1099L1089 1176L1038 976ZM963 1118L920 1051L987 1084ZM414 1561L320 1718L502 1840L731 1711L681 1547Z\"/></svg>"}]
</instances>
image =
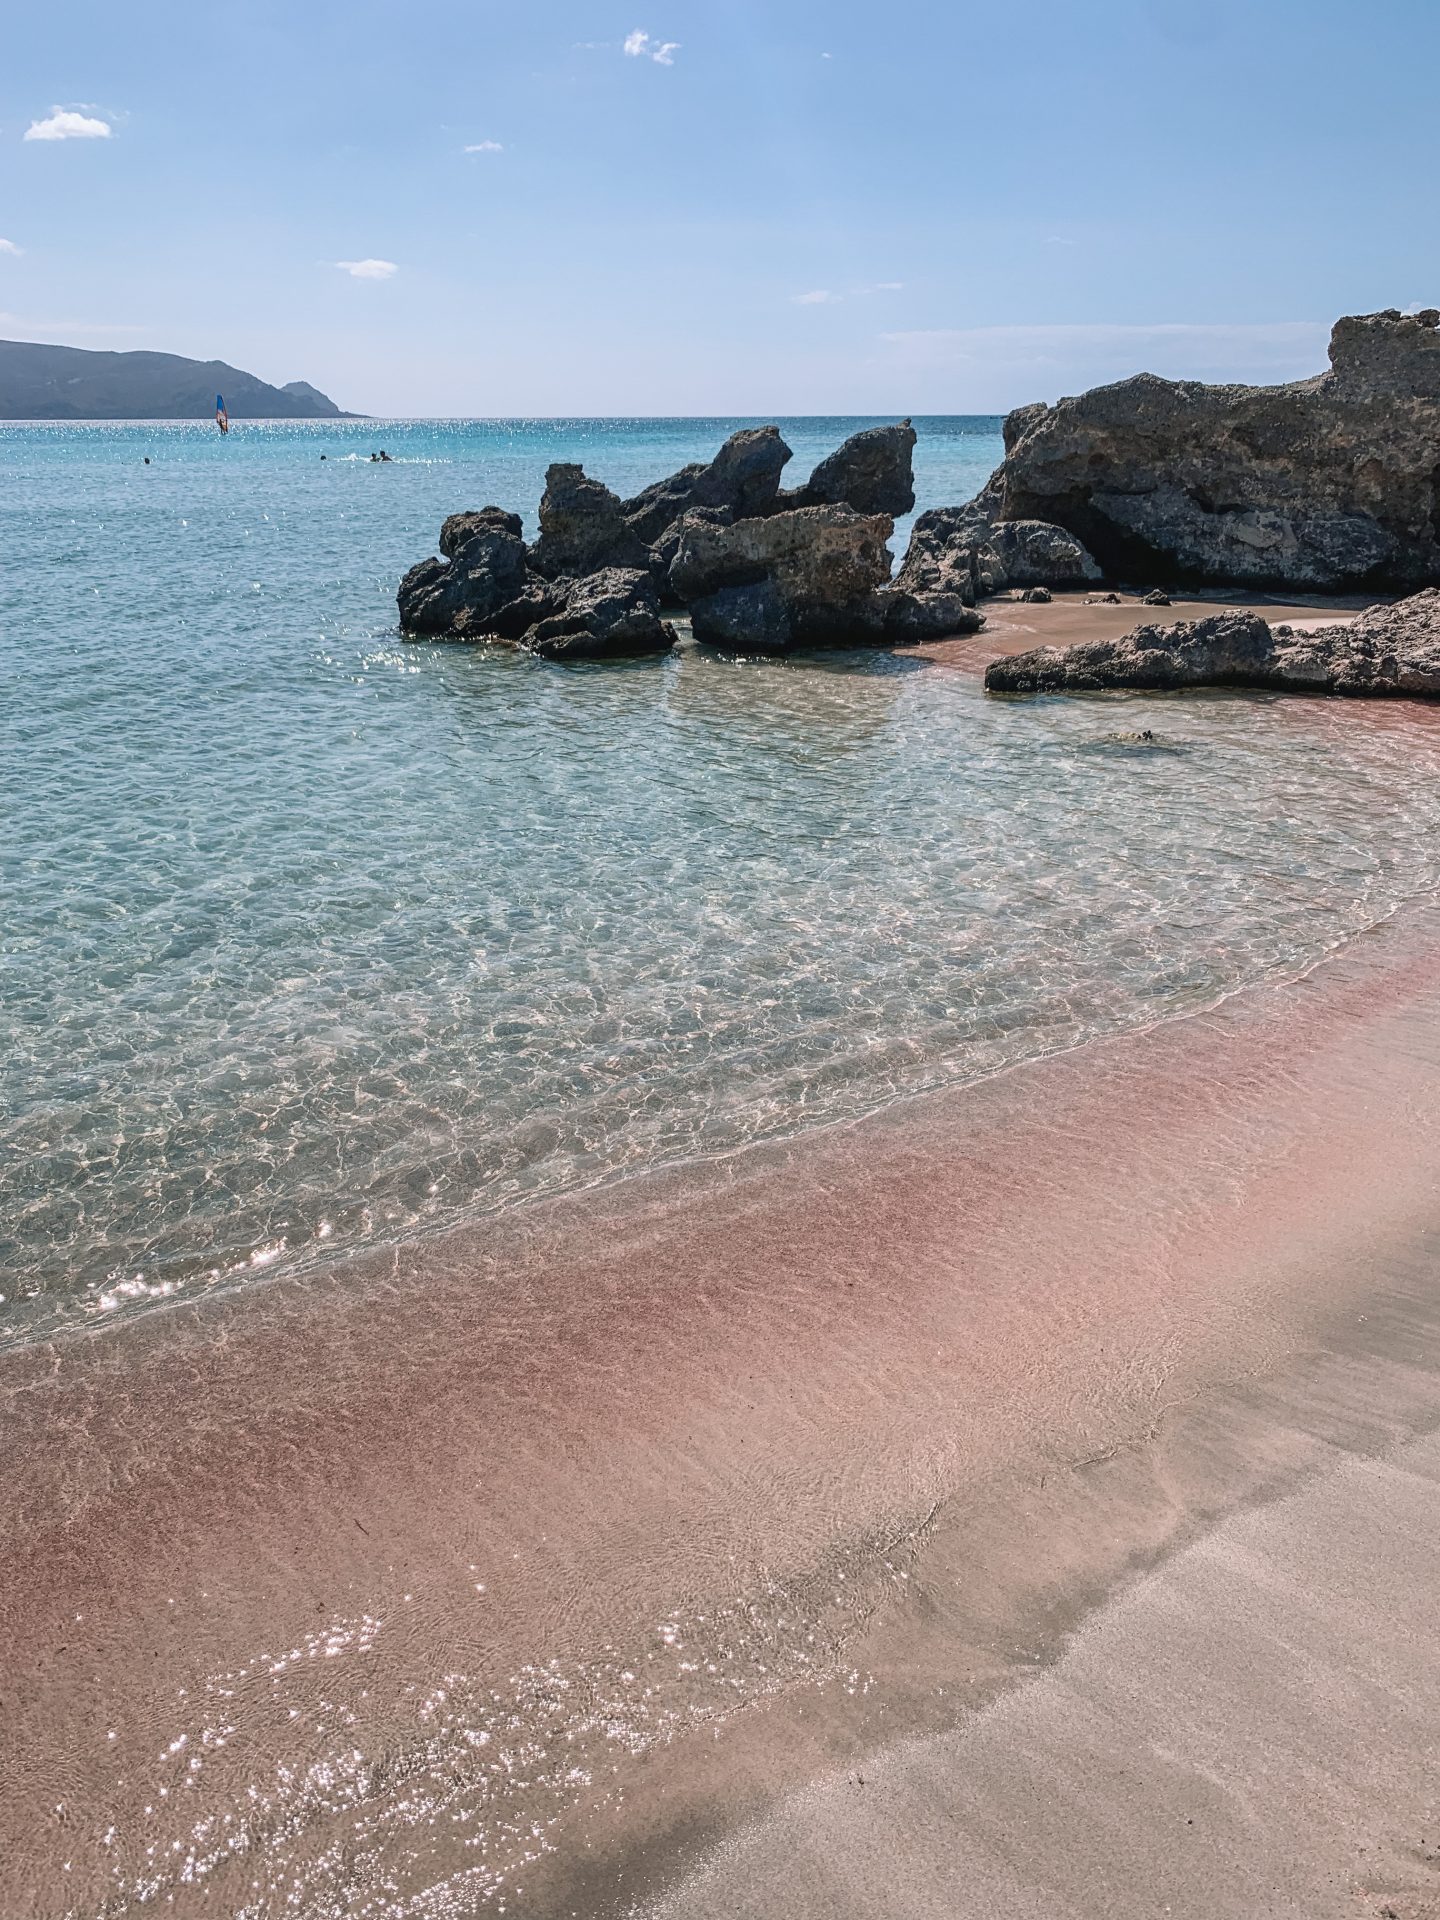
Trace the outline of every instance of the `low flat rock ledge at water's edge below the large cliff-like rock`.
<instances>
[{"instance_id":1,"label":"low flat rock ledge at water's edge below the large cliff-like rock","mask_svg":"<svg viewBox=\"0 0 1440 1920\"><path fill-rule=\"evenodd\" d=\"M1440 699L1440 591L1369 607L1352 622L1296 630L1254 612L1140 626L1123 639L1037 647L985 670L989 693L1098 693L1116 687L1271 687Z\"/></svg>"}]
</instances>

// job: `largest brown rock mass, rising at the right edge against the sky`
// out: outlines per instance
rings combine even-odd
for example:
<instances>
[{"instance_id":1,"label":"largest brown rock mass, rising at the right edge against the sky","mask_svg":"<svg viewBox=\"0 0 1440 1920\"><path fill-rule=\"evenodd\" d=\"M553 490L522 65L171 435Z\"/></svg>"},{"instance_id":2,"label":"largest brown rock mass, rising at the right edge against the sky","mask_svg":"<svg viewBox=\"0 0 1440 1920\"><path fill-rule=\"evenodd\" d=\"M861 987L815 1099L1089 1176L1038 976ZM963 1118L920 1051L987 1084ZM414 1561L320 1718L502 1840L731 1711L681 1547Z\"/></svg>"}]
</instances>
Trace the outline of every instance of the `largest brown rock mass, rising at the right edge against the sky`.
<instances>
[{"instance_id":1,"label":"largest brown rock mass, rising at the right edge against the sky","mask_svg":"<svg viewBox=\"0 0 1440 1920\"><path fill-rule=\"evenodd\" d=\"M1440 584L1440 311L1340 321L1290 386L1137 374L1006 420L1000 522L1110 574L1281 591Z\"/></svg>"}]
</instances>

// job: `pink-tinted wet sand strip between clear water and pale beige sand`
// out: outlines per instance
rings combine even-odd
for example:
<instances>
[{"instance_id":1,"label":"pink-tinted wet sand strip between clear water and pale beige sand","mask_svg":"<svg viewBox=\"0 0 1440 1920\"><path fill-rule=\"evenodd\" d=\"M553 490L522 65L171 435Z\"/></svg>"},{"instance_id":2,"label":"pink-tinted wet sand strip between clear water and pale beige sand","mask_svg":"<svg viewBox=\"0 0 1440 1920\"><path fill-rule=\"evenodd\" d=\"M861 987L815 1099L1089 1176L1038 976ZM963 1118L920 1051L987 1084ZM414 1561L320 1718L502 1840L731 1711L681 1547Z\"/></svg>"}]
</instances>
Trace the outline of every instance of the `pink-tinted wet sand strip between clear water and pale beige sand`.
<instances>
[{"instance_id":1,"label":"pink-tinted wet sand strip between clear water and pale beige sand","mask_svg":"<svg viewBox=\"0 0 1440 1920\"><path fill-rule=\"evenodd\" d=\"M914 1722L885 1663L954 1517L1394 1290L1384 1250L1434 1225L1438 920L826 1135L0 1359L10 1903L559 1914L588 1836L586 1910L618 1912L595 1872L687 1780L676 1870L872 1751L883 1703ZM1156 1517L1112 1526L1123 1565ZM993 1534L972 1599L1021 1548L1062 1578L1075 1534Z\"/></svg>"}]
</instances>

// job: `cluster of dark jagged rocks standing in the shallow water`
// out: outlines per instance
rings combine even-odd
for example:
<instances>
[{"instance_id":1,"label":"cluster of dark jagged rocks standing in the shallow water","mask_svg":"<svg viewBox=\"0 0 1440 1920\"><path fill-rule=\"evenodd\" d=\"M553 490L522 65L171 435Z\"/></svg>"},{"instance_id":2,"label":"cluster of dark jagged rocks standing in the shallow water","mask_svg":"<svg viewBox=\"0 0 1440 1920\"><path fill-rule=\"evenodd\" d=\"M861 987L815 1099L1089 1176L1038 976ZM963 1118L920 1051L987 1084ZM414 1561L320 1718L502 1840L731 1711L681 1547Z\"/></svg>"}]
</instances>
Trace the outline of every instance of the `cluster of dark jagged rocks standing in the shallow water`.
<instances>
[{"instance_id":1,"label":"cluster of dark jagged rocks standing in the shallow water","mask_svg":"<svg viewBox=\"0 0 1440 1920\"><path fill-rule=\"evenodd\" d=\"M634 499L555 465L532 547L501 507L445 520L440 557L401 580L401 630L559 660L666 651L666 603L689 607L697 639L739 653L975 632L973 566L966 593L947 566L933 580L891 580L893 516L914 505L914 444L908 420L866 428L791 493L780 492L791 451L776 426L732 434L712 461Z\"/></svg>"}]
</instances>

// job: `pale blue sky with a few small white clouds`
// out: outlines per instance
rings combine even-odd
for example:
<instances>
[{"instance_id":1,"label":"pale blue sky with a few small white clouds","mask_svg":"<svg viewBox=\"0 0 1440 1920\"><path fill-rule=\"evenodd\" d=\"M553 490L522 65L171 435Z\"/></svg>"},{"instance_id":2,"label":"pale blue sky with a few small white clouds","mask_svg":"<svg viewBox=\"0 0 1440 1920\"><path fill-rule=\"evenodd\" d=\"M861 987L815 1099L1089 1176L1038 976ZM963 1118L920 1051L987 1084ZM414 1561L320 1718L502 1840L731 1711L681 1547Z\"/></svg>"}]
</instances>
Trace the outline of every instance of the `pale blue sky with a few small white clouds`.
<instances>
[{"instance_id":1,"label":"pale blue sky with a few small white clouds","mask_svg":"<svg viewBox=\"0 0 1440 1920\"><path fill-rule=\"evenodd\" d=\"M1440 0L15 6L0 336L374 415L993 413L1440 305Z\"/></svg>"}]
</instances>

